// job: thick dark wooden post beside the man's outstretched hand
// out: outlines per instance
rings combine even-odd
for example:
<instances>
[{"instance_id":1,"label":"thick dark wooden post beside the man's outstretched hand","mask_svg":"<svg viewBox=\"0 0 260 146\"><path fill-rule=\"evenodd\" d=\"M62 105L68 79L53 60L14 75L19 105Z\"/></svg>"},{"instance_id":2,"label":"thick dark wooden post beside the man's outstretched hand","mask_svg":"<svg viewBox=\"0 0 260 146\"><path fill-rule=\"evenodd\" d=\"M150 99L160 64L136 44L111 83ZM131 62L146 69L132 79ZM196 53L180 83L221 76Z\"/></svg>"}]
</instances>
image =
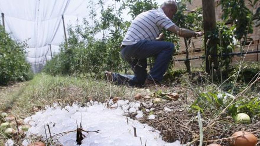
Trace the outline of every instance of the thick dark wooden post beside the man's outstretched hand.
<instances>
[{"instance_id":1,"label":"thick dark wooden post beside the man's outstretched hand","mask_svg":"<svg viewBox=\"0 0 260 146\"><path fill-rule=\"evenodd\" d=\"M209 40L210 38L208 37L209 34L214 33L216 30L215 0L202 0L202 9L205 33L206 72L209 75L212 75L214 74L214 69L217 70L217 73L219 71L217 61L217 41L216 39Z\"/></svg>"}]
</instances>

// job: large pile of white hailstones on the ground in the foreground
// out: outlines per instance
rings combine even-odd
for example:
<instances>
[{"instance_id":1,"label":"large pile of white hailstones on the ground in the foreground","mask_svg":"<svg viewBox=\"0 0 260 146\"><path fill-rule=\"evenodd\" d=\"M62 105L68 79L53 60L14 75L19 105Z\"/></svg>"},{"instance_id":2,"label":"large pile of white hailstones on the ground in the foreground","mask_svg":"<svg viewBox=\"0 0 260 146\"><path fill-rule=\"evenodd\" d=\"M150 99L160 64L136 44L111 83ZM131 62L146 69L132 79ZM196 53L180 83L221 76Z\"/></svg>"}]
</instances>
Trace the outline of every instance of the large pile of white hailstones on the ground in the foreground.
<instances>
[{"instance_id":1,"label":"large pile of white hailstones on the ground in the foreground","mask_svg":"<svg viewBox=\"0 0 260 146\"><path fill-rule=\"evenodd\" d=\"M95 104L94 104L95 103ZM85 131L86 136L82 140L81 146L137 146L140 145L140 137L142 141L147 141L149 146L180 146L180 143L167 143L160 137L160 132L152 132L152 127L147 124L141 124L137 120L126 117L125 114L137 112L136 118L141 118L143 112L136 110L140 105L138 102L119 101L121 107L106 108L105 104L98 104L91 101L91 105L87 107L79 107L75 104L73 106L66 106L66 109L61 107L48 107L46 111L41 111L26 118L27 121L32 122L32 127L29 132L26 132L28 139L30 134L36 134L45 137L44 126L48 123L50 125L51 134L58 134L61 132L68 132L77 129L80 123ZM129 108L130 107L130 108ZM150 111L150 110L149 110ZM155 115L150 115L149 119L155 119ZM35 121L33 123L33 121ZM137 137L134 137L133 127L136 127ZM99 130L98 132L95 132ZM49 132L47 130L47 135ZM57 137L58 143L62 145L76 146L76 132L69 132ZM26 141L23 141L26 146ZM28 143L28 142L27 142Z\"/></svg>"}]
</instances>

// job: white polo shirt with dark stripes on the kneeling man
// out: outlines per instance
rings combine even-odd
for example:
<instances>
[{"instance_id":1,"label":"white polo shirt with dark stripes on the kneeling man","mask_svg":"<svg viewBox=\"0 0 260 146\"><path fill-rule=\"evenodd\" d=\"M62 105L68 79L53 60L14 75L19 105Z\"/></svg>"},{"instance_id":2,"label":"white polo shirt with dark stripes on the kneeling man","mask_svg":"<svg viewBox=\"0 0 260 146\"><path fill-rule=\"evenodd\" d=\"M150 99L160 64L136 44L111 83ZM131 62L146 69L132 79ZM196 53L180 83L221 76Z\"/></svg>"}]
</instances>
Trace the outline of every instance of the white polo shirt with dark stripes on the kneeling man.
<instances>
[{"instance_id":1,"label":"white polo shirt with dark stripes on the kneeling man","mask_svg":"<svg viewBox=\"0 0 260 146\"><path fill-rule=\"evenodd\" d=\"M143 12L132 21L122 45L134 45L140 40L155 41L163 28L168 29L173 25L161 8Z\"/></svg>"}]
</instances>

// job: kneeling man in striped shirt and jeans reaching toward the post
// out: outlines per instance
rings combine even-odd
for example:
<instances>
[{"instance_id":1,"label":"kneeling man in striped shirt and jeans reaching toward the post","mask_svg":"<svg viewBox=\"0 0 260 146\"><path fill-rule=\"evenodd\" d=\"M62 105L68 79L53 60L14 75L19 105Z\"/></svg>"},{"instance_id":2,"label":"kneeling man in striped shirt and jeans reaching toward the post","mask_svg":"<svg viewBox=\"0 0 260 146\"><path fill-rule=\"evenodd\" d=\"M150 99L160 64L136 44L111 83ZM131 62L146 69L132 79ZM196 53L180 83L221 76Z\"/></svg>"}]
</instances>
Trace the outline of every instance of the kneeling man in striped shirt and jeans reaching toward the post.
<instances>
[{"instance_id":1,"label":"kneeling man in striped shirt and jeans reaching toward the post","mask_svg":"<svg viewBox=\"0 0 260 146\"><path fill-rule=\"evenodd\" d=\"M202 36L202 32L179 28L171 21L177 12L177 4L173 0L165 1L159 9L139 14L131 23L121 45L121 53L134 71L134 75L122 75L106 71L108 80L118 84L142 86L144 84L160 84L174 53L171 42L163 39L162 29L180 37ZM156 56L155 64L147 74L147 58Z\"/></svg>"}]
</instances>

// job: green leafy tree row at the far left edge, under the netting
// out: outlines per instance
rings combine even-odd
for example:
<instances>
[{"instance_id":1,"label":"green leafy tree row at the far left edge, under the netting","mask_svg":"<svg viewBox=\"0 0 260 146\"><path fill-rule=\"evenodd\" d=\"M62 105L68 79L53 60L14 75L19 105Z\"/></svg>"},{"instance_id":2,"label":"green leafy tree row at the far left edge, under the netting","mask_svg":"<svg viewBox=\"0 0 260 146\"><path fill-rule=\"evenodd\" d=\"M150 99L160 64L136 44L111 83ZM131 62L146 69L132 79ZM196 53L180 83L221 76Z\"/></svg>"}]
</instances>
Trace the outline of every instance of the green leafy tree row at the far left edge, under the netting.
<instances>
[{"instance_id":1,"label":"green leafy tree row at the far left edge, under the netting","mask_svg":"<svg viewBox=\"0 0 260 146\"><path fill-rule=\"evenodd\" d=\"M0 85L32 78L30 64L25 59L25 47L26 41L12 40L0 25Z\"/></svg>"}]
</instances>

